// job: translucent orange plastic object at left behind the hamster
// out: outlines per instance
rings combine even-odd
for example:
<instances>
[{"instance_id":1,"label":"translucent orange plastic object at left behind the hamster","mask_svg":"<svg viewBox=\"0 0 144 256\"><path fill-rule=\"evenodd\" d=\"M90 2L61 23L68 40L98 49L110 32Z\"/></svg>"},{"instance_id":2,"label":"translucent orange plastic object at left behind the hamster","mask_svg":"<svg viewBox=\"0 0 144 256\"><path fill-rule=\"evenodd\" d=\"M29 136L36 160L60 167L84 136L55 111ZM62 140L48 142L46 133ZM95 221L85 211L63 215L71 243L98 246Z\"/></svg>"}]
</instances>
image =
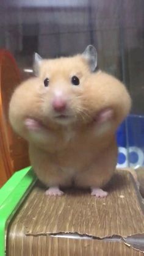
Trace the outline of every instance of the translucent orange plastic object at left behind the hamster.
<instances>
[{"instance_id":1,"label":"translucent orange plastic object at left behind the hamster","mask_svg":"<svg viewBox=\"0 0 144 256\"><path fill-rule=\"evenodd\" d=\"M13 132L8 116L10 97L20 81L15 59L0 50L0 186L13 172L29 166L27 144Z\"/></svg>"}]
</instances>

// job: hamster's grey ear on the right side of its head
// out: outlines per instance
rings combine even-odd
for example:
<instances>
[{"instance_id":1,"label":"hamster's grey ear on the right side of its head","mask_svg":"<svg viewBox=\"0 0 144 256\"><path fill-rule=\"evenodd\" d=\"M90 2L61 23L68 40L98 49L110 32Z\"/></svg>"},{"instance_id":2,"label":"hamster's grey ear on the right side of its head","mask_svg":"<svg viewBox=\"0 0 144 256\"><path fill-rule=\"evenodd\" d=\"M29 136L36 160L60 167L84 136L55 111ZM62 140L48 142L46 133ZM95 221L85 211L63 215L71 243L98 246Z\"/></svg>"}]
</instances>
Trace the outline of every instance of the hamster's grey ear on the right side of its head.
<instances>
[{"instance_id":1,"label":"hamster's grey ear on the right side of its head","mask_svg":"<svg viewBox=\"0 0 144 256\"><path fill-rule=\"evenodd\" d=\"M82 56L88 61L90 70L95 71L98 60L96 48L93 45L88 45Z\"/></svg>"}]
</instances>

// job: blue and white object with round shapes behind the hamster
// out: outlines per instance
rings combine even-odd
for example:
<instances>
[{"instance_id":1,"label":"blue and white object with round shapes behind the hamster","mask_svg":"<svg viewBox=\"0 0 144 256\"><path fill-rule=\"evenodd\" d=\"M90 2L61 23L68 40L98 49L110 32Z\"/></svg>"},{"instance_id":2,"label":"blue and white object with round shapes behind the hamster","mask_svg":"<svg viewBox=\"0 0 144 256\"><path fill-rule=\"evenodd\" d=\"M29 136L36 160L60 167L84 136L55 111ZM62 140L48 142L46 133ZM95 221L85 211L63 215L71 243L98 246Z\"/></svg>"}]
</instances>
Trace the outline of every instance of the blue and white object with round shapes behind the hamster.
<instances>
[{"instance_id":1,"label":"blue and white object with round shapes behind the hamster","mask_svg":"<svg viewBox=\"0 0 144 256\"><path fill-rule=\"evenodd\" d=\"M117 130L117 167L144 165L144 116L129 115Z\"/></svg>"}]
</instances>

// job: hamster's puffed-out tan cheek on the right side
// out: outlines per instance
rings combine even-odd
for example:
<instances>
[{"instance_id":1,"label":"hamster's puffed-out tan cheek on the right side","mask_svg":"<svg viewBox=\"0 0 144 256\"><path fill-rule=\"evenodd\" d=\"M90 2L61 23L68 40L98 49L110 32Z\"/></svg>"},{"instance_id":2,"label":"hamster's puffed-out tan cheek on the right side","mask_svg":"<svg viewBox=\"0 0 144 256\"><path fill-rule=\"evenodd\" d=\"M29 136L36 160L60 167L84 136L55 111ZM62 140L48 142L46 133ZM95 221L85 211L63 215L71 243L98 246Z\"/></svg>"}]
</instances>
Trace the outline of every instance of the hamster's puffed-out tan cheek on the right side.
<instances>
[{"instance_id":1,"label":"hamster's puffed-out tan cheek on the right side","mask_svg":"<svg viewBox=\"0 0 144 256\"><path fill-rule=\"evenodd\" d=\"M84 88L84 104L88 114L95 116L104 109L112 109L115 128L117 128L131 108L131 98L126 87L116 78L100 72L88 76ZM99 118L105 119L107 115L111 114L107 112L104 115L99 115Z\"/></svg>"}]
</instances>

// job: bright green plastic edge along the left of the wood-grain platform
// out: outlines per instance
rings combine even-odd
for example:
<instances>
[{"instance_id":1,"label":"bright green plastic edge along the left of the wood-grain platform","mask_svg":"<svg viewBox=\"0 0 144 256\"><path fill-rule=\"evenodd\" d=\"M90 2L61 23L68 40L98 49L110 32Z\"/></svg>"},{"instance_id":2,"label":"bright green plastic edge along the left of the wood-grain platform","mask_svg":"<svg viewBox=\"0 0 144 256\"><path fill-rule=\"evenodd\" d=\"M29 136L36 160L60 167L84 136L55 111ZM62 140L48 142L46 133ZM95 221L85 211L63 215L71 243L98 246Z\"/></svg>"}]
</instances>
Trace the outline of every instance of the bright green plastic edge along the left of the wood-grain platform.
<instances>
[{"instance_id":1,"label":"bright green plastic edge along the left of the wood-grain platform","mask_svg":"<svg viewBox=\"0 0 144 256\"><path fill-rule=\"evenodd\" d=\"M7 226L35 181L34 172L27 167L15 172L0 189L0 256L6 254Z\"/></svg>"}]
</instances>

